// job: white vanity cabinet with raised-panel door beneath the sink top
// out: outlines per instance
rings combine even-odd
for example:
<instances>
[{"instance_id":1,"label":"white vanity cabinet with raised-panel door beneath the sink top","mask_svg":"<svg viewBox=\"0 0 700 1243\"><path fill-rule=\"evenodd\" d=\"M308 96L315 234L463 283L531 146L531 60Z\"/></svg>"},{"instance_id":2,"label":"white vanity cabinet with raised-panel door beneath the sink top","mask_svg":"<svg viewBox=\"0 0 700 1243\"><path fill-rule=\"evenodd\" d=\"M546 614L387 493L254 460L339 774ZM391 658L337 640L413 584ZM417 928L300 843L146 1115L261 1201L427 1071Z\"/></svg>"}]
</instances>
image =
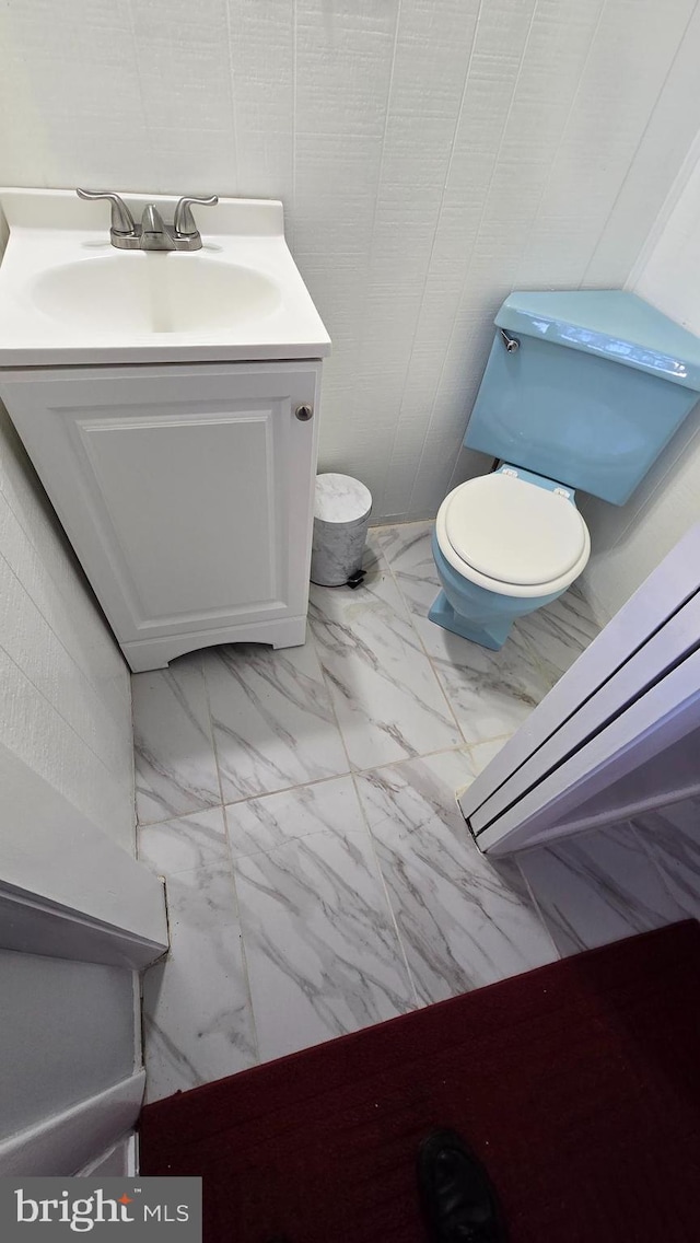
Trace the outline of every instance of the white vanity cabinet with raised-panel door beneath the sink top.
<instances>
[{"instance_id":1,"label":"white vanity cabinet with raised-panel door beneath the sink top","mask_svg":"<svg viewBox=\"0 0 700 1243\"><path fill-rule=\"evenodd\" d=\"M0 374L133 670L305 641L320 374L316 360Z\"/></svg>"}]
</instances>

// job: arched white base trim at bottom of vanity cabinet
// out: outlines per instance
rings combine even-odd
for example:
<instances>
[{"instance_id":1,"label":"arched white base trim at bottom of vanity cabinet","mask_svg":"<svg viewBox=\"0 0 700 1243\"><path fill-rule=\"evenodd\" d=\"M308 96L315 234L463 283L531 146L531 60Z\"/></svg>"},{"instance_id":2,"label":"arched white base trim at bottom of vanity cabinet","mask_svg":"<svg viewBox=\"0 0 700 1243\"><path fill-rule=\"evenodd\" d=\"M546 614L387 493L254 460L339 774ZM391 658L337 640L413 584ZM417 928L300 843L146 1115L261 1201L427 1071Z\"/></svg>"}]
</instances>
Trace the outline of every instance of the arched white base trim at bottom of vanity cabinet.
<instances>
[{"instance_id":1,"label":"arched white base trim at bottom of vanity cabinet","mask_svg":"<svg viewBox=\"0 0 700 1243\"><path fill-rule=\"evenodd\" d=\"M306 613L275 622L241 622L218 630L193 630L160 639L137 639L119 644L134 674L165 669L175 656L220 643L269 643L272 648L301 648L306 643Z\"/></svg>"}]
</instances>

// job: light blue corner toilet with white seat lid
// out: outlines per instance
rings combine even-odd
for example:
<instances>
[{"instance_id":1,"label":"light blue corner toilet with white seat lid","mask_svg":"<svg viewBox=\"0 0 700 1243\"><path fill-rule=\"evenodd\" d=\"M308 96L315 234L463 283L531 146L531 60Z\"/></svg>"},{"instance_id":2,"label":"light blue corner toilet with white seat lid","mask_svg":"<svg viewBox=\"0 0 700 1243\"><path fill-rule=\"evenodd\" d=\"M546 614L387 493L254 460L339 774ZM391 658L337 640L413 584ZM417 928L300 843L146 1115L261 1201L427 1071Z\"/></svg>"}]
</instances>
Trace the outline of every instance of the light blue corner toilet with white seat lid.
<instances>
[{"instance_id":1,"label":"light blue corner toilet with white seat lid","mask_svg":"<svg viewBox=\"0 0 700 1243\"><path fill-rule=\"evenodd\" d=\"M495 469L438 511L428 614L492 650L586 568L577 491L624 505L700 394L700 341L634 293L513 293L495 323L464 438Z\"/></svg>"}]
</instances>

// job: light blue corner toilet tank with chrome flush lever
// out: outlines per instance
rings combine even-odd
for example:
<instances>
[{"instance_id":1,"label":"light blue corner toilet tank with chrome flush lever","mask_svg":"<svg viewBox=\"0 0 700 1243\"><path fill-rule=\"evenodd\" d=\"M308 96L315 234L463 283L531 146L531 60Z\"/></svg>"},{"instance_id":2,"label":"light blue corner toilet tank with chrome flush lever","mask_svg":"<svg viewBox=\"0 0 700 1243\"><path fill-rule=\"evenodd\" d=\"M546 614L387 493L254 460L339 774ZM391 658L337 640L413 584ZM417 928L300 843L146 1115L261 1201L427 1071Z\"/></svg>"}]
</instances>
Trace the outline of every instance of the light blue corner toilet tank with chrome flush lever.
<instances>
[{"instance_id":1,"label":"light blue corner toilet tank with chrome flush lever","mask_svg":"<svg viewBox=\"0 0 700 1243\"><path fill-rule=\"evenodd\" d=\"M465 445L624 505L698 401L700 341L623 290L512 293L495 322Z\"/></svg>"}]
</instances>

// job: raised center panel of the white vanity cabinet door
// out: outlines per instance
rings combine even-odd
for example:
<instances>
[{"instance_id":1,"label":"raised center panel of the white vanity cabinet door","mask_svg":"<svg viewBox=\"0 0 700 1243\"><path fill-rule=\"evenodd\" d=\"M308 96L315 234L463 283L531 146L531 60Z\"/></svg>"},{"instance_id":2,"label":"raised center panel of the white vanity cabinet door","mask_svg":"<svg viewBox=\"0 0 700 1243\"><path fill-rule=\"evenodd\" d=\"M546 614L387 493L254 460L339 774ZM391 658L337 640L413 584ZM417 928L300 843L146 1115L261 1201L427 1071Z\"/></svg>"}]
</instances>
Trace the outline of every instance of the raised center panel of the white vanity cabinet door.
<instances>
[{"instance_id":1,"label":"raised center panel of the white vanity cabinet door","mask_svg":"<svg viewBox=\"0 0 700 1243\"><path fill-rule=\"evenodd\" d=\"M275 408L144 415L76 419L134 618L168 625L251 604L283 607Z\"/></svg>"}]
</instances>

